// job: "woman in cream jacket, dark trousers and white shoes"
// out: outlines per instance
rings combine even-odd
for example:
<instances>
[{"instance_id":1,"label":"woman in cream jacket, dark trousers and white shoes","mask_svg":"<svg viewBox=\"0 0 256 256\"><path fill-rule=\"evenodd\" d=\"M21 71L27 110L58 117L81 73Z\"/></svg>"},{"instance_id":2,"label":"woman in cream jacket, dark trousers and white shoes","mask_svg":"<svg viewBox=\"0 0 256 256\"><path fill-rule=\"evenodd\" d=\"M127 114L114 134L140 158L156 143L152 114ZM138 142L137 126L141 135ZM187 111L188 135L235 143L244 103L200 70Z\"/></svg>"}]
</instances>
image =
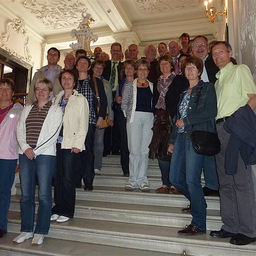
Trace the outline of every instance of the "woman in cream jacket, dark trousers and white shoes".
<instances>
[{"instance_id":1,"label":"woman in cream jacket, dark trousers and white shoes","mask_svg":"<svg viewBox=\"0 0 256 256\"><path fill-rule=\"evenodd\" d=\"M89 106L86 98L74 90L77 76L73 70L63 70L59 81L64 91L52 101L62 108L63 126L57 139L57 167L53 174L55 206L52 208L51 220L65 222L74 217L75 165L77 153L85 150Z\"/></svg>"}]
</instances>

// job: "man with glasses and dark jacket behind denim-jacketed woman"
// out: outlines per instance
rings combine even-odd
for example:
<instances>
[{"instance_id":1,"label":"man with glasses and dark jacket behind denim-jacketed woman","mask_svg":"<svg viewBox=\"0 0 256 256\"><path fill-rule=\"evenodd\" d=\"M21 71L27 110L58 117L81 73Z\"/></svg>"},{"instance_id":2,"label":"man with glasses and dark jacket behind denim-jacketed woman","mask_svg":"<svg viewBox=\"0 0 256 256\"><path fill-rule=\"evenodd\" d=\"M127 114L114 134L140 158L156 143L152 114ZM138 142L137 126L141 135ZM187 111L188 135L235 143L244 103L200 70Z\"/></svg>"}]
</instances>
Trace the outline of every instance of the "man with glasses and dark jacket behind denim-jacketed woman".
<instances>
[{"instance_id":1,"label":"man with glasses and dark jacket behind denim-jacketed woman","mask_svg":"<svg viewBox=\"0 0 256 256\"><path fill-rule=\"evenodd\" d=\"M217 81L215 75L218 73L219 68L215 65L211 54L208 52L208 45L209 43L207 37L196 36L192 42L192 52L194 56L200 58L204 62L204 69L201 79L204 82L211 82L214 84ZM209 196L212 194L218 194L219 182L214 156L205 157L204 179L204 195Z\"/></svg>"}]
</instances>

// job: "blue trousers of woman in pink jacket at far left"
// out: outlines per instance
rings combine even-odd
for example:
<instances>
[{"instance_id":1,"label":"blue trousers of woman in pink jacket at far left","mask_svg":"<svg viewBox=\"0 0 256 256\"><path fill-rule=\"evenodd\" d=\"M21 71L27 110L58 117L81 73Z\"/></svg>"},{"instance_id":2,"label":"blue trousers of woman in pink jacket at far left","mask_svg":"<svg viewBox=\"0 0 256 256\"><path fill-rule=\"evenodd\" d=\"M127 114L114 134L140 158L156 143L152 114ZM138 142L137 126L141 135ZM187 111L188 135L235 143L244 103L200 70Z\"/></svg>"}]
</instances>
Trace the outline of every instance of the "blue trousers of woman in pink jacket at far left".
<instances>
[{"instance_id":1,"label":"blue trousers of woman in pink jacket at far left","mask_svg":"<svg viewBox=\"0 0 256 256\"><path fill-rule=\"evenodd\" d=\"M17 159L0 159L0 228L3 230L7 230L7 213L16 164Z\"/></svg>"}]
</instances>

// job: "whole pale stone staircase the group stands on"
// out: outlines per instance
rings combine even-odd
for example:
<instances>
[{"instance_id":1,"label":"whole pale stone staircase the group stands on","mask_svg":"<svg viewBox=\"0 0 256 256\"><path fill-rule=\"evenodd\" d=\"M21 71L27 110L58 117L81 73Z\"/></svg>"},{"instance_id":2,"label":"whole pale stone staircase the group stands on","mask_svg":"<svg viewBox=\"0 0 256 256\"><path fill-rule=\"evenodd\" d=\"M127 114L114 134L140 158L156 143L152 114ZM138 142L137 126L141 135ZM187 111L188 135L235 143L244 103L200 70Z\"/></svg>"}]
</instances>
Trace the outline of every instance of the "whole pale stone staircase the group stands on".
<instances>
[{"instance_id":1,"label":"whole pale stone staircase the group stands on","mask_svg":"<svg viewBox=\"0 0 256 256\"><path fill-rule=\"evenodd\" d=\"M128 178L122 175L119 157L103 158L94 190L76 191L74 219L52 222L49 235L40 246L31 246L31 240L12 243L20 232L21 190L17 185L17 195L11 199L9 233L0 240L0 255L256 255L256 243L235 246L229 243L229 238L209 236L209 230L221 227L218 197L206 197L206 234L178 235L177 231L191 221L191 215L181 211L188 205L187 199L182 195L155 193L161 186L157 161L149 162L148 178L149 192L125 191Z\"/></svg>"}]
</instances>

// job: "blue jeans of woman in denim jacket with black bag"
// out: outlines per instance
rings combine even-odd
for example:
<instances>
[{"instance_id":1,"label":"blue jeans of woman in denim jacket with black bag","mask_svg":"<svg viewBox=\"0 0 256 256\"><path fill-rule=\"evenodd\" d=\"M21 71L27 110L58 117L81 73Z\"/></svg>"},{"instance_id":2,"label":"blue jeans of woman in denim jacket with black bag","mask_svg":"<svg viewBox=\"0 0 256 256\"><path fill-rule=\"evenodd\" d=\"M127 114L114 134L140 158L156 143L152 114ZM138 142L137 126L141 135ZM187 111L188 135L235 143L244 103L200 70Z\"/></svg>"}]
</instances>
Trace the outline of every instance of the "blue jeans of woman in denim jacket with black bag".
<instances>
[{"instance_id":1,"label":"blue jeans of woman in denim jacket with black bag","mask_svg":"<svg viewBox=\"0 0 256 256\"><path fill-rule=\"evenodd\" d=\"M204 155L193 150L191 140L184 141L183 133L178 133L170 165L170 182L190 201L191 224L206 230L206 208L201 172Z\"/></svg>"}]
</instances>

